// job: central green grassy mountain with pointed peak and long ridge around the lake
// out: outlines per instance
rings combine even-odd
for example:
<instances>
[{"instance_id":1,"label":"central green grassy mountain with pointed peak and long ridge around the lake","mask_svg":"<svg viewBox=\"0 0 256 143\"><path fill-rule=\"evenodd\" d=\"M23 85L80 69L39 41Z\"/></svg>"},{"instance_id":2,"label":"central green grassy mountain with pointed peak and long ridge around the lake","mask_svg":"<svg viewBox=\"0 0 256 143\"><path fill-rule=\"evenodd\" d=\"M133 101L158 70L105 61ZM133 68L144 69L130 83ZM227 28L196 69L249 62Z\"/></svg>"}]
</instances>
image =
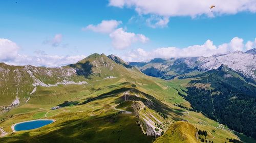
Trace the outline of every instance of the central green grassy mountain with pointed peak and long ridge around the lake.
<instances>
[{"instance_id":1,"label":"central green grassy mountain with pointed peak and long ridge around the lake","mask_svg":"<svg viewBox=\"0 0 256 143\"><path fill-rule=\"evenodd\" d=\"M152 142L155 136L181 120L207 130L210 135L206 138L214 136L215 142L224 142L226 137L239 139L232 131L217 129L218 122L188 110L190 103L178 93L185 94L183 86L191 79L165 81L150 77L104 54L93 54L61 69L74 71L72 78L63 79L76 82L56 84L62 80L57 74L60 72L56 72L53 79L59 81L43 82L56 85L37 85L27 102L2 112L0 127L9 134L0 138L0 142ZM41 81L46 77L37 79ZM79 81L87 83L77 84ZM33 88L32 85L29 92ZM57 105L61 108L50 109ZM14 123L34 119L55 119L56 122L11 133Z\"/></svg>"}]
</instances>

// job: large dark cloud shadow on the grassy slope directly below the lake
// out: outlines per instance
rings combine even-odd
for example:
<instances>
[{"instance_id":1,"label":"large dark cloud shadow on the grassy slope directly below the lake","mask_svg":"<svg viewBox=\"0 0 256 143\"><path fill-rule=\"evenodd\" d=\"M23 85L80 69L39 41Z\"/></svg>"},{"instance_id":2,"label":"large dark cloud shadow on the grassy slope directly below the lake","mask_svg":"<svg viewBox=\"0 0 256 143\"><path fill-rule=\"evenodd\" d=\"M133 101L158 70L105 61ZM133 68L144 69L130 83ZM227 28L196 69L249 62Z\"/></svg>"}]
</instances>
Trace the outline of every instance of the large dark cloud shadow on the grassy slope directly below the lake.
<instances>
[{"instance_id":1,"label":"large dark cloud shadow on the grassy slope directly below the lake","mask_svg":"<svg viewBox=\"0 0 256 143\"><path fill-rule=\"evenodd\" d=\"M75 119L82 113L72 113L73 120L57 121L30 132L16 132L0 138L0 142L152 142L136 124L136 117L114 113L104 117ZM111 120L110 120L111 119Z\"/></svg>"}]
</instances>

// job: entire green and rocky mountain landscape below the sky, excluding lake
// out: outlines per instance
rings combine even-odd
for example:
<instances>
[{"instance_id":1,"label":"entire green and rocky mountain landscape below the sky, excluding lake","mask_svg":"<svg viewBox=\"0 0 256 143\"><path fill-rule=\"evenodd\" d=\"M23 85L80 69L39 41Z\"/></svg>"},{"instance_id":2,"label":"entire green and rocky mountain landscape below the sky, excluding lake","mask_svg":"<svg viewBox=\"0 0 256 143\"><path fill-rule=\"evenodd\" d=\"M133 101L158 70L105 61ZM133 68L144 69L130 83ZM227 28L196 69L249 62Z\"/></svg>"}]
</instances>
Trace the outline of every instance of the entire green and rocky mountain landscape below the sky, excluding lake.
<instances>
[{"instance_id":1,"label":"entire green and rocky mountain landscape below the sky, excluding lake","mask_svg":"<svg viewBox=\"0 0 256 143\"><path fill-rule=\"evenodd\" d=\"M255 142L254 56L126 63L94 53L58 68L1 63L0 142ZM35 119L56 122L11 128Z\"/></svg>"}]
</instances>

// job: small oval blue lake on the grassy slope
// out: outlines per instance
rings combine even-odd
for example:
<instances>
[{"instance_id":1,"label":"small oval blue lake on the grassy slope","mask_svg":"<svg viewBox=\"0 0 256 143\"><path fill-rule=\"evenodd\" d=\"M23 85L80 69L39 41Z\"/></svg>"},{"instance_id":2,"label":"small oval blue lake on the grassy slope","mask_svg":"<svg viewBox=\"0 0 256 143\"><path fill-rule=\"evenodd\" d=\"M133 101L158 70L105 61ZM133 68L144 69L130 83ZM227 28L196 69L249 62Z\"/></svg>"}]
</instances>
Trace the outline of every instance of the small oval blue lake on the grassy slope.
<instances>
[{"instance_id":1,"label":"small oval blue lake on the grassy slope","mask_svg":"<svg viewBox=\"0 0 256 143\"><path fill-rule=\"evenodd\" d=\"M35 121L28 121L24 123L18 123L14 126L14 130L16 131L24 131L24 130L32 130L36 128L40 128L42 126L51 124L53 120L35 120Z\"/></svg>"}]
</instances>

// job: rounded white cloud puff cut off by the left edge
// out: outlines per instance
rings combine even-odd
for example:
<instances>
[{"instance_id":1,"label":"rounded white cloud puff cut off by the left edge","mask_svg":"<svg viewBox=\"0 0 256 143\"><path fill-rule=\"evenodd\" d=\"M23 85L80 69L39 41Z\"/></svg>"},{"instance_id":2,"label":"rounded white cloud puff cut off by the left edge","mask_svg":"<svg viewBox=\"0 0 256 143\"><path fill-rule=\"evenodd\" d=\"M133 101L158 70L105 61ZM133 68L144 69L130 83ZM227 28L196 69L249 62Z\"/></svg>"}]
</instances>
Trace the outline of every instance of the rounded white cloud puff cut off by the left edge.
<instances>
[{"instance_id":1,"label":"rounded white cloud puff cut off by the left edge","mask_svg":"<svg viewBox=\"0 0 256 143\"><path fill-rule=\"evenodd\" d=\"M19 47L16 43L0 38L0 62L14 59L18 49Z\"/></svg>"}]
</instances>

